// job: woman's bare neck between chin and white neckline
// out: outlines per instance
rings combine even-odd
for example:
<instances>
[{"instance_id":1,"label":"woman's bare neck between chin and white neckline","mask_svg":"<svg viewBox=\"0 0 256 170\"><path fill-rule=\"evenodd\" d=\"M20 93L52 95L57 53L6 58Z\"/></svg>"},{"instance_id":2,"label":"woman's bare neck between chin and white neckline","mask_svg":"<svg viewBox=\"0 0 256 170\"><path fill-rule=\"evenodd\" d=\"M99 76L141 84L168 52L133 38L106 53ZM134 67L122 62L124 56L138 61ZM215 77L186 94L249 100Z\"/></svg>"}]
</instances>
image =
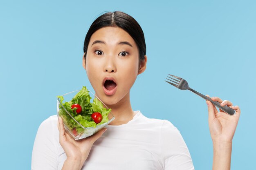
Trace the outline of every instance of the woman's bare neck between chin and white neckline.
<instances>
[{"instance_id":1,"label":"woman's bare neck between chin and white neckline","mask_svg":"<svg viewBox=\"0 0 256 170\"><path fill-rule=\"evenodd\" d=\"M111 112L115 116L115 119L110 125L127 124L134 117L134 112L130 104L130 92L117 104L108 105L108 108L111 108Z\"/></svg>"}]
</instances>

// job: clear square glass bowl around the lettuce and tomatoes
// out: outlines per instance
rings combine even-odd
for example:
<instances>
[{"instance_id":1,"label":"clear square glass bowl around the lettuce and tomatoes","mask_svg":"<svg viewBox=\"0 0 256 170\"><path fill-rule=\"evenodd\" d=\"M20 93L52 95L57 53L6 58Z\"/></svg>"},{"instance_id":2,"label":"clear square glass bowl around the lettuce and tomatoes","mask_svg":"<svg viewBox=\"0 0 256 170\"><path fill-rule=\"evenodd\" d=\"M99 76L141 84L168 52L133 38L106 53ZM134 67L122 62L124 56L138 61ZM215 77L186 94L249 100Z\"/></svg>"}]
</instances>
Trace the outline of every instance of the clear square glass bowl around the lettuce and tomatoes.
<instances>
[{"instance_id":1,"label":"clear square glass bowl around the lettuce and tomatoes","mask_svg":"<svg viewBox=\"0 0 256 170\"><path fill-rule=\"evenodd\" d=\"M64 100L65 101L70 101L75 95L76 93L78 93L80 90L78 91L72 91L72 92L69 92L69 93L66 93L65 95L62 95L64 97ZM89 90L88 90L89 91ZM95 96L92 92L90 92L90 96L91 97L97 97ZM93 99L93 98L92 98ZM91 100L92 100L91 99ZM99 99L97 97L97 99ZM99 99L99 101L101 101ZM63 101L64 102L64 101ZM101 103L106 107L108 108L102 101ZM61 109L64 109L65 112L67 113L68 116L70 116L71 119L73 119L72 121L74 121L74 124L76 126L79 126L81 127L83 130L79 133L76 132L76 130L74 130L74 128L68 126L69 122L67 120L65 120L65 118L63 116L61 116L59 113L60 113L60 110ZM98 132L99 130L101 130L102 128L104 128L105 126L107 126L108 124L110 124L111 121L113 121L115 119L114 115L111 113L108 114L108 119L109 121L104 123L104 124L100 124L100 125L97 125L95 128L94 127L89 127L89 128L85 128L83 127L78 121L76 121L76 119L74 119L74 117L66 110L66 108L61 104L61 101L60 99L58 98L57 99L57 114L58 114L58 117L60 116L63 120L63 124L64 124L64 128L65 130L70 134L70 136L72 136L75 140L79 140L79 139L84 139L86 137L89 137L91 135L93 135L94 133Z\"/></svg>"}]
</instances>

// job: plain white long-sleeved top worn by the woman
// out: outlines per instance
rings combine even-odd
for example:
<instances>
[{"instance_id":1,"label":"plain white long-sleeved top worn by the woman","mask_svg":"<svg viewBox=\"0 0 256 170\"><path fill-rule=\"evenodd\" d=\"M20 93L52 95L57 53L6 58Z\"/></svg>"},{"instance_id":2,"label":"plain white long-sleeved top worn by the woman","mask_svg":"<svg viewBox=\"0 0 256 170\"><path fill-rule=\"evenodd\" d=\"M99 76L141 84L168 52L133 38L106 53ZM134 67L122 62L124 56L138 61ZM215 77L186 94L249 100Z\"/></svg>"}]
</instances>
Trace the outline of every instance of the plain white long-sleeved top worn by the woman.
<instances>
[{"instance_id":1,"label":"plain white long-sleeved top worn by the woman","mask_svg":"<svg viewBox=\"0 0 256 170\"><path fill-rule=\"evenodd\" d=\"M57 115L40 125L32 152L32 170L61 170L66 154L59 144ZM136 111L127 124L108 129L92 146L82 170L194 170L180 132L167 120Z\"/></svg>"}]
</instances>

